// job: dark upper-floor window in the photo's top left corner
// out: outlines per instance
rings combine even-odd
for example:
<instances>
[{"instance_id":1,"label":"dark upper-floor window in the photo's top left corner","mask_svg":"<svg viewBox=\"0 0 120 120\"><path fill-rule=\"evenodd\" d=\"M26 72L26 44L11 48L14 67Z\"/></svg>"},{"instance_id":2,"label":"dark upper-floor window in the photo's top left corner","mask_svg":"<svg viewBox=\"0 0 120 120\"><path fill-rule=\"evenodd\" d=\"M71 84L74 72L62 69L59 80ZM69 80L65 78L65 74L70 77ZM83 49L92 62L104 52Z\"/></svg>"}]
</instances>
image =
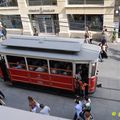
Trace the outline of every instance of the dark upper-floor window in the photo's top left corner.
<instances>
[{"instance_id":1,"label":"dark upper-floor window in the photo's top left corner","mask_svg":"<svg viewBox=\"0 0 120 120\"><path fill-rule=\"evenodd\" d=\"M17 0L0 0L0 7L18 6Z\"/></svg>"}]
</instances>

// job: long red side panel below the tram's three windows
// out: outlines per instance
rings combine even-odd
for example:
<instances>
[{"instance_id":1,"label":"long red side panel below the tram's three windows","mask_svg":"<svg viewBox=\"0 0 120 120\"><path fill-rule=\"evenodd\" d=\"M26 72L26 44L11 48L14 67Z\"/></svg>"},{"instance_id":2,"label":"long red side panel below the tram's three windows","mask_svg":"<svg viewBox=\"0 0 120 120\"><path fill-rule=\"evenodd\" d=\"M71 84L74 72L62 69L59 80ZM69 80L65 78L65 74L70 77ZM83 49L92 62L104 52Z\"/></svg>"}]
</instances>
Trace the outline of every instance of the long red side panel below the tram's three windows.
<instances>
[{"instance_id":1,"label":"long red side panel below the tram's three windows","mask_svg":"<svg viewBox=\"0 0 120 120\"><path fill-rule=\"evenodd\" d=\"M25 82L74 91L73 77L25 70L9 69L11 81Z\"/></svg>"}]
</instances>

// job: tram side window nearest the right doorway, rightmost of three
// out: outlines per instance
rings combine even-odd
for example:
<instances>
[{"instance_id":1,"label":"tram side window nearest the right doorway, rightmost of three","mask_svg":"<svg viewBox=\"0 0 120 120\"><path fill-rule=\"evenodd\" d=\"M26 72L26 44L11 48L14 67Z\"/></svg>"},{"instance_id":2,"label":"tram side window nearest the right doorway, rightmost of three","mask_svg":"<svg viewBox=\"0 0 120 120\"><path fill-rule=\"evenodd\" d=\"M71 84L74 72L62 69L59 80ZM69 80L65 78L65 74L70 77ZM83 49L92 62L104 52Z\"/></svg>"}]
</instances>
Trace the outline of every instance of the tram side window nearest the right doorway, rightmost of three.
<instances>
[{"instance_id":1,"label":"tram side window nearest the right doorway, rightmost of three","mask_svg":"<svg viewBox=\"0 0 120 120\"><path fill-rule=\"evenodd\" d=\"M50 60L50 73L72 76L72 63Z\"/></svg>"}]
</instances>

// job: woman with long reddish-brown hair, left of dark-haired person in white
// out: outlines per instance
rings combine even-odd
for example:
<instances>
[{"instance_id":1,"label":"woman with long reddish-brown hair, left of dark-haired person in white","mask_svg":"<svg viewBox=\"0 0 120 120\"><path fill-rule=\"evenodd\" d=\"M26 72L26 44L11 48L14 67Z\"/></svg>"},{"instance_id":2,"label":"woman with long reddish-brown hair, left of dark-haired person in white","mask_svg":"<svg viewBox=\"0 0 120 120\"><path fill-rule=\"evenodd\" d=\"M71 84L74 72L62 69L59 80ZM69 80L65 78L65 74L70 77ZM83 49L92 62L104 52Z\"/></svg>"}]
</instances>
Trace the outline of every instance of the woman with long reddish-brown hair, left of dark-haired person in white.
<instances>
[{"instance_id":1,"label":"woman with long reddish-brown hair, left of dark-haired person in white","mask_svg":"<svg viewBox=\"0 0 120 120\"><path fill-rule=\"evenodd\" d=\"M40 104L31 96L28 96L28 102L29 102L29 111L37 113L37 109L40 108Z\"/></svg>"}]
</instances>

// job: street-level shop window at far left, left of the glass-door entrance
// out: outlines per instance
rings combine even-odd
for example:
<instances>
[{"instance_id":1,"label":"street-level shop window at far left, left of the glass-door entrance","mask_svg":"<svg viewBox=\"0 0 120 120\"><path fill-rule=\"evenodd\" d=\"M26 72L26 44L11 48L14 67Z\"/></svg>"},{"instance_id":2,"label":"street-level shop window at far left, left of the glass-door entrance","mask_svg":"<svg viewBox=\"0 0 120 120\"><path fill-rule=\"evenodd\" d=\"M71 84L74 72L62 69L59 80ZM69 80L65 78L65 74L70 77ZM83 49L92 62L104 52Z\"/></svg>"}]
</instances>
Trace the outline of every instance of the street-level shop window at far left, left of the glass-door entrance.
<instances>
[{"instance_id":1,"label":"street-level shop window at far left, left of the glass-door entrance","mask_svg":"<svg viewBox=\"0 0 120 120\"><path fill-rule=\"evenodd\" d=\"M6 28L22 28L20 15L1 15L0 21Z\"/></svg>"}]
</instances>

